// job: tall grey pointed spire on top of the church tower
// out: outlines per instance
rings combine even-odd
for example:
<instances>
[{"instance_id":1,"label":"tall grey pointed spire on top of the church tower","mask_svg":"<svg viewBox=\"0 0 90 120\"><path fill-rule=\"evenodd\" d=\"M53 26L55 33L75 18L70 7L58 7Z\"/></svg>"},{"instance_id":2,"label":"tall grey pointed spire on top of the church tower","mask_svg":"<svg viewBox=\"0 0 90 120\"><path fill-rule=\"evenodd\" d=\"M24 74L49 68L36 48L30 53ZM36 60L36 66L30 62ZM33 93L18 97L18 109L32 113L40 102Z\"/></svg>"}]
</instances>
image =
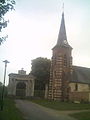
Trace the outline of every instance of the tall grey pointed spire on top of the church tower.
<instances>
[{"instance_id":1,"label":"tall grey pointed spire on top of the church tower","mask_svg":"<svg viewBox=\"0 0 90 120\"><path fill-rule=\"evenodd\" d=\"M63 11L63 13L62 13L62 20L61 20L61 26L60 26L60 31L59 31L59 35L58 35L57 45L60 46L60 45L66 44L66 43L67 43L67 36L66 36L64 11Z\"/></svg>"}]
</instances>

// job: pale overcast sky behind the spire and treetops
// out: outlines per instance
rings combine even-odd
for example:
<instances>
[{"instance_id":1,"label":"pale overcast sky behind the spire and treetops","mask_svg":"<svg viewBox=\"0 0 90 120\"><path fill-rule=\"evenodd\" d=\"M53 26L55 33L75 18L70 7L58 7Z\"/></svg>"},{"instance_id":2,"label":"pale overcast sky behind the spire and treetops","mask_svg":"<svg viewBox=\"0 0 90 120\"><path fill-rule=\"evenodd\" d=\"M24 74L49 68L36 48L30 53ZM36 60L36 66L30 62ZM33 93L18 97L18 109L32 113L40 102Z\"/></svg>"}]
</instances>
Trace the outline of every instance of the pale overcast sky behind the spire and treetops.
<instances>
[{"instance_id":1,"label":"pale overcast sky behind the spire and treetops","mask_svg":"<svg viewBox=\"0 0 90 120\"><path fill-rule=\"evenodd\" d=\"M90 0L63 1L73 64L90 67ZM3 81L5 59L10 61L6 84L9 73L24 68L28 74L32 59L51 59L60 29L62 4L62 0L16 0L16 10L7 15L10 22L3 30L8 39L0 46L0 81Z\"/></svg>"}]
</instances>

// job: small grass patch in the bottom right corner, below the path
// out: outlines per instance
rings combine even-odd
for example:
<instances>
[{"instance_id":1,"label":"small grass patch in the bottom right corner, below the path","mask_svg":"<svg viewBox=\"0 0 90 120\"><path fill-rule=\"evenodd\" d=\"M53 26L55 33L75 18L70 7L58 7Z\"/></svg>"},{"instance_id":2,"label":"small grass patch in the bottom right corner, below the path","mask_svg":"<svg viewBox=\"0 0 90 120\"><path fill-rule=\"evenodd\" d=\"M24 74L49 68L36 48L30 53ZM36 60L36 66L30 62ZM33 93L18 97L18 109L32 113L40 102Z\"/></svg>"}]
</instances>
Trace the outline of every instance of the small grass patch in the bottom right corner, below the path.
<instances>
[{"instance_id":1,"label":"small grass patch in the bottom right corner, below the path","mask_svg":"<svg viewBox=\"0 0 90 120\"><path fill-rule=\"evenodd\" d=\"M76 118L77 120L90 120L90 111L74 113L71 114L70 116Z\"/></svg>"}]
</instances>

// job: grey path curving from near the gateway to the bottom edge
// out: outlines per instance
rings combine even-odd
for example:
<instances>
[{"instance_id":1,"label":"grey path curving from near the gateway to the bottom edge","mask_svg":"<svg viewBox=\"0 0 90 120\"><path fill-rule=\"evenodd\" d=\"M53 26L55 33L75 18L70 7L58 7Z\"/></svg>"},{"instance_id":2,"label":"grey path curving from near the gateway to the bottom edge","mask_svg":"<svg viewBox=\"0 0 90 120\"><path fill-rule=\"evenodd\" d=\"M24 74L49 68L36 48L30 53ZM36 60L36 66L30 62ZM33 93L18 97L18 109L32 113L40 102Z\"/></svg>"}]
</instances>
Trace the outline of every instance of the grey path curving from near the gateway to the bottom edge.
<instances>
[{"instance_id":1,"label":"grey path curving from near the gateway to the bottom edge","mask_svg":"<svg viewBox=\"0 0 90 120\"><path fill-rule=\"evenodd\" d=\"M71 111L60 112L27 100L15 100L15 102L16 107L23 113L25 120L76 120L68 116Z\"/></svg>"}]
</instances>

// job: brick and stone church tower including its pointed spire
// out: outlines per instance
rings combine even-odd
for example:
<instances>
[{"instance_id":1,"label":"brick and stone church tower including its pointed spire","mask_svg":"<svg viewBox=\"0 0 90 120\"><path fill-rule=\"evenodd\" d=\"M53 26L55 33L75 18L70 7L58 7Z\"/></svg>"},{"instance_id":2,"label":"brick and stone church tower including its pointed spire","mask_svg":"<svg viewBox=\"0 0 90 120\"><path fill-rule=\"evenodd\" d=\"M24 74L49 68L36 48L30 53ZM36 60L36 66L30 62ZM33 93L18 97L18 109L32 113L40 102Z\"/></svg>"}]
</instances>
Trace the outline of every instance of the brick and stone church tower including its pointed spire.
<instances>
[{"instance_id":1,"label":"brick and stone church tower including its pointed spire","mask_svg":"<svg viewBox=\"0 0 90 120\"><path fill-rule=\"evenodd\" d=\"M57 44L52 51L48 99L67 100L72 72L72 47L67 41L64 12L62 13Z\"/></svg>"}]
</instances>

